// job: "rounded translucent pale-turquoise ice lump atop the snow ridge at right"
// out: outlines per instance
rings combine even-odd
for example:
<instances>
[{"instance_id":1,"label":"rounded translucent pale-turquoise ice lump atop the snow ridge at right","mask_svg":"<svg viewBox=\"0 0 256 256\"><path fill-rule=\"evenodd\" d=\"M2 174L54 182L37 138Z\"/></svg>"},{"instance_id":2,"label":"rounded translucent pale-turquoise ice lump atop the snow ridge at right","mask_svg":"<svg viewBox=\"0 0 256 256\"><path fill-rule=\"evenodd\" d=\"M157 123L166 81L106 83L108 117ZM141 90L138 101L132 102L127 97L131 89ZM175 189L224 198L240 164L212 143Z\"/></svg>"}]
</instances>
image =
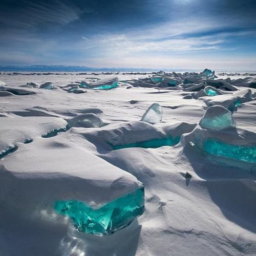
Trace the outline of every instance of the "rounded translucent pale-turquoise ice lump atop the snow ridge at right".
<instances>
[{"instance_id":1,"label":"rounded translucent pale-turquoise ice lump atop the snow ridge at right","mask_svg":"<svg viewBox=\"0 0 256 256\"><path fill-rule=\"evenodd\" d=\"M235 127L232 113L224 108L224 106L210 106L199 125L206 130L220 131L230 127Z\"/></svg>"}]
</instances>

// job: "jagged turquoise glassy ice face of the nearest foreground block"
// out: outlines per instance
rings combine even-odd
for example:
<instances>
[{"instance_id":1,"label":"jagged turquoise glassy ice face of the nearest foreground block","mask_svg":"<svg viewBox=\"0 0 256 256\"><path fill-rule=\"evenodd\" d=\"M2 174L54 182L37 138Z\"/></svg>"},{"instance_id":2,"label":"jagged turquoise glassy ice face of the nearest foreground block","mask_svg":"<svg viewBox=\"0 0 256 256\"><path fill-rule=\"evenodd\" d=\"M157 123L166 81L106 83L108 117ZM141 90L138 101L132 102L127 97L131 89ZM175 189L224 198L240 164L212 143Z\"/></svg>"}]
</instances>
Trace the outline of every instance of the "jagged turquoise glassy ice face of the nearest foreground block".
<instances>
[{"instance_id":1,"label":"jagged turquoise glassy ice face of the nearest foreground block","mask_svg":"<svg viewBox=\"0 0 256 256\"><path fill-rule=\"evenodd\" d=\"M117 198L99 208L92 208L81 201L57 201L55 210L69 216L80 232L108 236L128 226L144 212L144 186L133 193Z\"/></svg>"}]
</instances>

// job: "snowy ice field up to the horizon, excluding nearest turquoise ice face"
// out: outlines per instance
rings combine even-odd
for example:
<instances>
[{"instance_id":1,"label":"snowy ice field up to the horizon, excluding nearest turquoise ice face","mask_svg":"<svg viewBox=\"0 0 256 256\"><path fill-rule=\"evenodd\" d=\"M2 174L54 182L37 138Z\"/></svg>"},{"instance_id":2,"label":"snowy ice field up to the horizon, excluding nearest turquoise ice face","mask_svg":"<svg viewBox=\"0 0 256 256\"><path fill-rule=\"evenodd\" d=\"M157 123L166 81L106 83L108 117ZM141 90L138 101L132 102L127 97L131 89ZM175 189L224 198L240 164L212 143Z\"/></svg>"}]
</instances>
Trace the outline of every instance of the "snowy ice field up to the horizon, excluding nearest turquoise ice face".
<instances>
[{"instance_id":1,"label":"snowy ice field up to the horizon, excluding nearest turquoise ice face","mask_svg":"<svg viewBox=\"0 0 256 256\"><path fill-rule=\"evenodd\" d=\"M255 78L117 76L1 75L0 255L255 255ZM139 121L153 103L162 122ZM144 214L111 236L53 207L141 183Z\"/></svg>"}]
</instances>

